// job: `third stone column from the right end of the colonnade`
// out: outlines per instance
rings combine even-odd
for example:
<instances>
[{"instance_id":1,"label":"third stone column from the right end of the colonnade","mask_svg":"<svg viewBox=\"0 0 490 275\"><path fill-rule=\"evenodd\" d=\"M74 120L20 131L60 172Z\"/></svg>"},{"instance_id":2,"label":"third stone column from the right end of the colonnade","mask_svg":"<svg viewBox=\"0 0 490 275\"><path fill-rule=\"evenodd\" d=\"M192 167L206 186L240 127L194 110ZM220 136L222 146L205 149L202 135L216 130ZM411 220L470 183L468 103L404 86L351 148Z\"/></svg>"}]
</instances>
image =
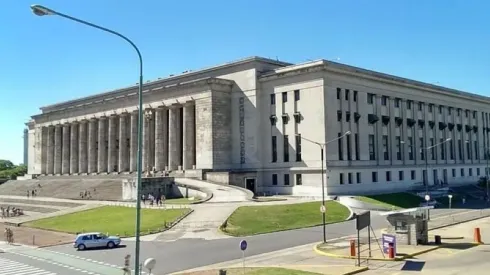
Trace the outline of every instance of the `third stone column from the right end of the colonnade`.
<instances>
[{"instance_id":1,"label":"third stone column from the right end of the colonnade","mask_svg":"<svg viewBox=\"0 0 490 275\"><path fill-rule=\"evenodd\" d=\"M164 107L156 109L155 113L155 168L165 170L168 165L168 117Z\"/></svg>"}]
</instances>

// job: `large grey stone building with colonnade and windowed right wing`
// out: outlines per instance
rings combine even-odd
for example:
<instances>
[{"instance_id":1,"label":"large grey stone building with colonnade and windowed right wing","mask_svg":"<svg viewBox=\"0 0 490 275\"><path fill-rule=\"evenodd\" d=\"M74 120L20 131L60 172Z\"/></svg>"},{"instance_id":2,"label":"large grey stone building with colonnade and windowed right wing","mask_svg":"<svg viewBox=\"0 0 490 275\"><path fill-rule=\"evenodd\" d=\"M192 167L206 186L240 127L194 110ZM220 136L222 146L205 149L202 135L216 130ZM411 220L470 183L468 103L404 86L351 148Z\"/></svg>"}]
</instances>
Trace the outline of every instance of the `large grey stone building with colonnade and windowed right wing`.
<instances>
[{"instance_id":1,"label":"large grey stone building with colonnade and windowed right wing","mask_svg":"<svg viewBox=\"0 0 490 275\"><path fill-rule=\"evenodd\" d=\"M317 196L325 144L329 195L486 172L489 98L326 60L247 58L149 81L143 98L145 171ZM27 123L29 174L136 171L137 86L41 111Z\"/></svg>"}]
</instances>

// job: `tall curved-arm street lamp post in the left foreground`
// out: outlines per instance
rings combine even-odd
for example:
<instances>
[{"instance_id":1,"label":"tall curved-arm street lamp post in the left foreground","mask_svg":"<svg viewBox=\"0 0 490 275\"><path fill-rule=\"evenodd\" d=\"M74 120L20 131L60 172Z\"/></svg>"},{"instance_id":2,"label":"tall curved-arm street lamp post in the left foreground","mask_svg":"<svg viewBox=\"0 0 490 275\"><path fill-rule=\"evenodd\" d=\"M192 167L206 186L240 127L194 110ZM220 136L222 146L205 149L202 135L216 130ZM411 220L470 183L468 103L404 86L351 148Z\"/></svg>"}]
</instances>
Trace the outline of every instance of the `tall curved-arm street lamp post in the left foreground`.
<instances>
[{"instance_id":1,"label":"tall curved-arm street lamp post in the left foreground","mask_svg":"<svg viewBox=\"0 0 490 275\"><path fill-rule=\"evenodd\" d=\"M118 37L124 39L126 42L128 42L134 48L136 53L138 54L138 59L139 59L140 64L139 64L139 83L138 83L139 84L138 85L138 150L137 150L138 152L137 152L137 172L136 172L136 175L137 175L137 181L136 181L137 195L136 195L136 232L135 232L136 248L135 248L135 258L134 258L135 259L134 271L135 271L135 274L139 274L140 273L140 265L139 265L140 226L141 226L141 194L140 193L141 193L141 160L142 160L142 157L141 157L142 156L142 154L141 154L141 147L142 147L141 132L142 132L142 125L143 125L143 58L141 57L140 50L138 49L138 47L136 47L136 45L133 43L133 41L129 40L129 38L127 38L126 36L116 32L116 31L113 31L113 30L104 28L102 26L98 26L98 25L92 24L90 22L69 16L69 15L66 15L66 14L63 14L63 13L60 13L57 11L54 11L52 9L49 9L49 8L41 6L41 5L32 5L31 9L32 9L32 12L37 16L58 15L58 16L63 17L65 19L75 21L77 23L80 23L80 24L83 24L83 25L86 25L86 26L89 26L92 28L96 28L96 29L99 29L101 31L111 33L115 36L118 36Z\"/></svg>"}]
</instances>

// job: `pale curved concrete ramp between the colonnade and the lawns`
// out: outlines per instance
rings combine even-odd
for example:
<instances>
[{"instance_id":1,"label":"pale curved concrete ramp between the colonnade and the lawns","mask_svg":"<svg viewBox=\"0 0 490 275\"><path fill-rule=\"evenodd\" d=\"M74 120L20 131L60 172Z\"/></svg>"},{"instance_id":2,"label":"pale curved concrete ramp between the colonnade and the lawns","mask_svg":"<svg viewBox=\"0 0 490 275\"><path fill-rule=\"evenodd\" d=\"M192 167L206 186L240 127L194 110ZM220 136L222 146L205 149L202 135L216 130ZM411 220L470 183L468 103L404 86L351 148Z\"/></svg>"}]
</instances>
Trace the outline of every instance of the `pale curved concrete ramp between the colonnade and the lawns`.
<instances>
[{"instance_id":1,"label":"pale curved concrete ramp between the colonnade and the lawns","mask_svg":"<svg viewBox=\"0 0 490 275\"><path fill-rule=\"evenodd\" d=\"M250 193L247 190L239 187L230 187L189 178L175 178L174 181L189 187L209 190L213 193L213 197L208 202L243 202L248 201L250 197Z\"/></svg>"}]
</instances>

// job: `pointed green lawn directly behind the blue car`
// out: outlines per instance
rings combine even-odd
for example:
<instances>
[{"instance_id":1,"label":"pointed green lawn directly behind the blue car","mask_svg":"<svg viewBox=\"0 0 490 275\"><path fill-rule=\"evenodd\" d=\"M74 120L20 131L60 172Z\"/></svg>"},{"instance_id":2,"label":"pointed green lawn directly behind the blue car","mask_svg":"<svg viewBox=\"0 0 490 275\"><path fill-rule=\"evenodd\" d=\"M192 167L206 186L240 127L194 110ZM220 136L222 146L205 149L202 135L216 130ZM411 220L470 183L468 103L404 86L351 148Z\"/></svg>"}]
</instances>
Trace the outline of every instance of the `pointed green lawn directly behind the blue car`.
<instances>
[{"instance_id":1,"label":"pointed green lawn directly behind the blue car","mask_svg":"<svg viewBox=\"0 0 490 275\"><path fill-rule=\"evenodd\" d=\"M134 236L135 208L103 206L87 211L37 220L25 226L67 233L102 232L121 237ZM141 234L159 232L189 209L141 209Z\"/></svg>"}]
</instances>

